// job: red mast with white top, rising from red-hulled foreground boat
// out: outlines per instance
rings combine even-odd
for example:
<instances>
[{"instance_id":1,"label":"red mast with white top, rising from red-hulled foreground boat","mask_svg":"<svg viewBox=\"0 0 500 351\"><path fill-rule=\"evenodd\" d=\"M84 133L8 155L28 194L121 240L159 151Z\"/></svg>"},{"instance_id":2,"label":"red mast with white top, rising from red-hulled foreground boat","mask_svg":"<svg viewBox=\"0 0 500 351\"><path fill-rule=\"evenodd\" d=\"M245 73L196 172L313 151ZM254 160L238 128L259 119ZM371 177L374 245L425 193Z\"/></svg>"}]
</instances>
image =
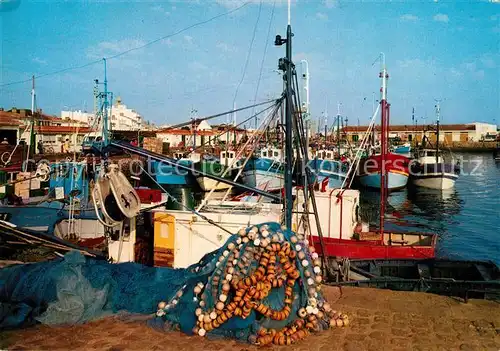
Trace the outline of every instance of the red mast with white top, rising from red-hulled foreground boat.
<instances>
[{"instance_id":1,"label":"red mast with white top, rising from red-hulled foreground boat","mask_svg":"<svg viewBox=\"0 0 500 351\"><path fill-rule=\"evenodd\" d=\"M381 240L384 239L384 217L385 217L385 198L386 198L386 158L387 158L387 79L389 75L385 68L385 55L381 53L382 57L382 70L379 77L382 79L382 86L380 88L380 104L381 104L381 131L380 131L380 236Z\"/></svg>"}]
</instances>

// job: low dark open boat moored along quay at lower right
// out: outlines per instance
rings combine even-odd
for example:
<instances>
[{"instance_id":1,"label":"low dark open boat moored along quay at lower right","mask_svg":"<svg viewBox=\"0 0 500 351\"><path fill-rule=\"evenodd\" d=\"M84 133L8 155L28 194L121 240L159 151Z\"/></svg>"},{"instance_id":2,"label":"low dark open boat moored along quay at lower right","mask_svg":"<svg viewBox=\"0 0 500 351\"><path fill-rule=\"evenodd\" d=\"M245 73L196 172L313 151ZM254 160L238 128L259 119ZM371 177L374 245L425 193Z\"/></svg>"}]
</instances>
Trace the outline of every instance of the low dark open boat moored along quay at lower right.
<instances>
[{"instance_id":1,"label":"low dark open boat moored along quay at lower right","mask_svg":"<svg viewBox=\"0 0 500 351\"><path fill-rule=\"evenodd\" d=\"M500 299L500 269L491 261L350 260L343 286Z\"/></svg>"}]
</instances>

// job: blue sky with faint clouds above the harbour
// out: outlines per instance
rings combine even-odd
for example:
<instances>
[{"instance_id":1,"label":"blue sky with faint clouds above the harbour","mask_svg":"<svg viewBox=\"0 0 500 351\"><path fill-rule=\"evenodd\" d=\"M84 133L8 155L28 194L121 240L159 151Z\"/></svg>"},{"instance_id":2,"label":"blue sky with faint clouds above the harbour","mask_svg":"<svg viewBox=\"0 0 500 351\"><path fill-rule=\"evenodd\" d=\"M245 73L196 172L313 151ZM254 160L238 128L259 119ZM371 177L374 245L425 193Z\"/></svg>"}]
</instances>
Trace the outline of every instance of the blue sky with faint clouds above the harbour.
<instances>
[{"instance_id":1,"label":"blue sky with faint clouds above the harbour","mask_svg":"<svg viewBox=\"0 0 500 351\"><path fill-rule=\"evenodd\" d=\"M44 112L92 111L103 57L114 97L157 125L275 98L285 48L274 37L286 25L284 0L0 0L0 106L30 108L35 75ZM391 123L411 124L412 108L419 124L433 123L435 99L442 123L500 123L497 0L293 0L291 25L314 120L326 111L332 123L340 107L349 125L367 124L383 52Z\"/></svg>"}]
</instances>

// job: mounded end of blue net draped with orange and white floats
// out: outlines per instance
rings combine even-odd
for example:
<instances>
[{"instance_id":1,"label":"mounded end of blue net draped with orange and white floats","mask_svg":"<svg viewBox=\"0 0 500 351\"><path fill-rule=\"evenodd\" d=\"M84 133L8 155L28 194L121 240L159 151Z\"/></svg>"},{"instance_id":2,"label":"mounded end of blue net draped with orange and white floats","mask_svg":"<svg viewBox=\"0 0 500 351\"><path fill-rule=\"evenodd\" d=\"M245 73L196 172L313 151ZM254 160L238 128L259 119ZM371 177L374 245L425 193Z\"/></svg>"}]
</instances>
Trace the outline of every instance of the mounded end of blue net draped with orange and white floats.
<instances>
[{"instance_id":1,"label":"mounded end of blue net draped with orange and white floats","mask_svg":"<svg viewBox=\"0 0 500 351\"><path fill-rule=\"evenodd\" d=\"M188 268L196 274L158 304L157 324L200 336L290 345L349 323L321 296L321 262L277 223L242 229Z\"/></svg>"}]
</instances>

